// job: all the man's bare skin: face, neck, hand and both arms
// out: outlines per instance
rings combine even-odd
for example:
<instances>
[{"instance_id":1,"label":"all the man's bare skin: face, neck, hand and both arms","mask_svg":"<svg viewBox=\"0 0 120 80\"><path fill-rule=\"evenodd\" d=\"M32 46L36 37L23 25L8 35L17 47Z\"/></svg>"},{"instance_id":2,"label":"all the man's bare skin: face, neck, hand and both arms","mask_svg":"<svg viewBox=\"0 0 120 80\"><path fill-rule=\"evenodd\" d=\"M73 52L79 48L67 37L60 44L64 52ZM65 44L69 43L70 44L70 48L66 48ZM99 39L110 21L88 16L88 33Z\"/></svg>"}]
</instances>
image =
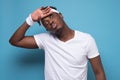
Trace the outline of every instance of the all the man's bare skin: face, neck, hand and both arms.
<instances>
[{"instance_id":1,"label":"all the man's bare skin: face, neck, hand and both arms","mask_svg":"<svg viewBox=\"0 0 120 80\"><path fill-rule=\"evenodd\" d=\"M42 21L46 30L55 35L59 40L66 42L74 37L74 30L70 29L63 20L63 16L60 13L54 13L50 11L51 8L40 8L35 10L32 14L32 20ZM38 48L33 36L26 36L25 33L29 29L29 25L24 22L17 31L10 38L9 42L17 47L35 49ZM104 69L100 56L89 59L92 69L94 71L96 80L106 80Z\"/></svg>"}]
</instances>

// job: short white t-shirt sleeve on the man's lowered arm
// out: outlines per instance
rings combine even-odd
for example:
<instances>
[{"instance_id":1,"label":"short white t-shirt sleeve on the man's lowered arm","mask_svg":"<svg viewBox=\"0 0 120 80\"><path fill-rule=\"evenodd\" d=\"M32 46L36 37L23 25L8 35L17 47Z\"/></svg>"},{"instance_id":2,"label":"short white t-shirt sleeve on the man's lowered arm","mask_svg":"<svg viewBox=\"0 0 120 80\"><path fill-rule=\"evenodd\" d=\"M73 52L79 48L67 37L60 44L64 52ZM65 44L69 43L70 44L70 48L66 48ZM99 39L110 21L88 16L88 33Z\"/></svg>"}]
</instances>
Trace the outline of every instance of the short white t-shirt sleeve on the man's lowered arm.
<instances>
[{"instance_id":1,"label":"short white t-shirt sleeve on the man's lowered arm","mask_svg":"<svg viewBox=\"0 0 120 80\"><path fill-rule=\"evenodd\" d=\"M89 37L88 39L88 46L87 46L87 57L94 58L99 55L98 48L96 45L96 42L92 36Z\"/></svg>"}]
</instances>

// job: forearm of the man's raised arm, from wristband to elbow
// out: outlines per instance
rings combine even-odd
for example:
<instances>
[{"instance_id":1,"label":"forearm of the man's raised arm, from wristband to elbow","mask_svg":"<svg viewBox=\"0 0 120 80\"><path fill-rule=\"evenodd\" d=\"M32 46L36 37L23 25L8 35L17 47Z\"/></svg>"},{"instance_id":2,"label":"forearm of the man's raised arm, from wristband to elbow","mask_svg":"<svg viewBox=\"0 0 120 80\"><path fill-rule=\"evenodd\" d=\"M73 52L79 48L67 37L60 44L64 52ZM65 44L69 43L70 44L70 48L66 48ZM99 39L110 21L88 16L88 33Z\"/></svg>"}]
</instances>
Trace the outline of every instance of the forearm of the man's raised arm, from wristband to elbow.
<instances>
[{"instance_id":1,"label":"forearm of the man's raised arm, from wristband to elbow","mask_svg":"<svg viewBox=\"0 0 120 80\"><path fill-rule=\"evenodd\" d=\"M12 35L12 37L10 38L9 42L11 44L15 44L17 42L19 42L20 40L22 40L25 36L25 33L27 31L27 29L29 28L29 25L24 22L17 30L16 32Z\"/></svg>"}]
</instances>

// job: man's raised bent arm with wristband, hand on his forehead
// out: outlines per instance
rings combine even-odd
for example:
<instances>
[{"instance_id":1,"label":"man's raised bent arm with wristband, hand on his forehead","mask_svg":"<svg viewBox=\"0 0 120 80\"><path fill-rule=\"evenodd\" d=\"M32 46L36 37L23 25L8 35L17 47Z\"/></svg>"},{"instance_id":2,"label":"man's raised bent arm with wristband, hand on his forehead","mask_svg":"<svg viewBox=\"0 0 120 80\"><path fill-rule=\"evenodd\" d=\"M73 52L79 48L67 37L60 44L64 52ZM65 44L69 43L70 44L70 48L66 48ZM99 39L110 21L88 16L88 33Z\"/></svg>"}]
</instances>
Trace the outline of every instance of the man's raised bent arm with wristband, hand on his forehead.
<instances>
[{"instance_id":1,"label":"man's raised bent arm with wristband, hand on his forehead","mask_svg":"<svg viewBox=\"0 0 120 80\"><path fill-rule=\"evenodd\" d=\"M25 36L28 28L34 23L39 21L40 19L50 15L50 7L46 9L40 8L35 10L26 21L16 30L16 32L12 35L9 42L17 47L23 48L38 48L33 36Z\"/></svg>"}]
</instances>

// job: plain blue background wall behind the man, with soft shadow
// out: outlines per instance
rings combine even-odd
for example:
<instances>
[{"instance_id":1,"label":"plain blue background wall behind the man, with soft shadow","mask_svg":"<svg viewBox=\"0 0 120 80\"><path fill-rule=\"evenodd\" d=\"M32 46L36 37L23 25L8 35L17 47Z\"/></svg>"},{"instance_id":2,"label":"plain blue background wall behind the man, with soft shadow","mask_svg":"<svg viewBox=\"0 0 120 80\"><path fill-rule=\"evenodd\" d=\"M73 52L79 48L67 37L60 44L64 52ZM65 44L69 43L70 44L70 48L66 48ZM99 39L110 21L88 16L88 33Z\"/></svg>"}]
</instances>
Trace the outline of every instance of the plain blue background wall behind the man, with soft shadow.
<instances>
[{"instance_id":1,"label":"plain blue background wall behind the man, with soft shadow","mask_svg":"<svg viewBox=\"0 0 120 80\"><path fill-rule=\"evenodd\" d=\"M72 29L96 40L107 80L120 80L120 0L1 0L0 80L44 80L44 51L11 46L9 38L29 13L56 6ZM38 24L26 35L44 32ZM95 80L89 64L88 80Z\"/></svg>"}]
</instances>

